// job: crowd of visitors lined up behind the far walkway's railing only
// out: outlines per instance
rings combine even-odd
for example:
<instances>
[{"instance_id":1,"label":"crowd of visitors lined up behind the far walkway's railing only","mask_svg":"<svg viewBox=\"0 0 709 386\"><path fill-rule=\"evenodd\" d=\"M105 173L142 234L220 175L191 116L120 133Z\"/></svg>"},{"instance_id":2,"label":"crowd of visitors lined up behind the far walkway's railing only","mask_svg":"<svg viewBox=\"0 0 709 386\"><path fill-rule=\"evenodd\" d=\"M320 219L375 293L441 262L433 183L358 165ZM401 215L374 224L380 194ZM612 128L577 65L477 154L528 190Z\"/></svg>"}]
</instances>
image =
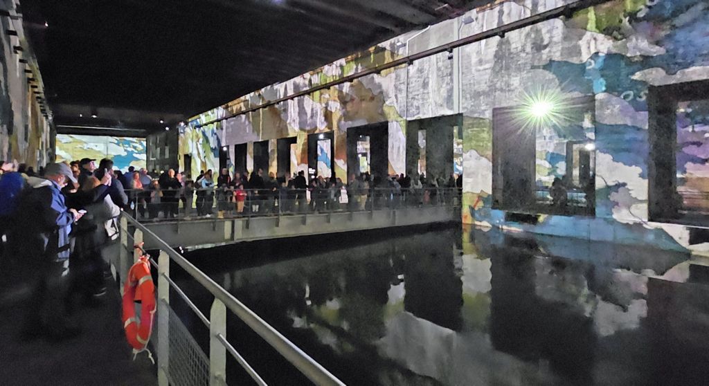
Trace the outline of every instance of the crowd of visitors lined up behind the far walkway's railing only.
<instances>
[{"instance_id":1,"label":"crowd of visitors lined up behind the far walkway's railing only","mask_svg":"<svg viewBox=\"0 0 709 386\"><path fill-rule=\"evenodd\" d=\"M424 175L393 175L379 178L370 174L342 178L311 176L303 171L295 176L264 174L257 169L251 174L230 174L223 168L201 171L192 180L189 175L165 171L150 183L128 171L124 183L130 196L130 209L138 218L217 217L225 215L269 215L272 213L331 212L335 210L370 210L398 208L406 205L452 203L458 200L462 178L448 180ZM133 183L130 183L133 181ZM182 203L182 206L179 204ZM216 213L215 213L216 210Z\"/></svg>"}]
</instances>

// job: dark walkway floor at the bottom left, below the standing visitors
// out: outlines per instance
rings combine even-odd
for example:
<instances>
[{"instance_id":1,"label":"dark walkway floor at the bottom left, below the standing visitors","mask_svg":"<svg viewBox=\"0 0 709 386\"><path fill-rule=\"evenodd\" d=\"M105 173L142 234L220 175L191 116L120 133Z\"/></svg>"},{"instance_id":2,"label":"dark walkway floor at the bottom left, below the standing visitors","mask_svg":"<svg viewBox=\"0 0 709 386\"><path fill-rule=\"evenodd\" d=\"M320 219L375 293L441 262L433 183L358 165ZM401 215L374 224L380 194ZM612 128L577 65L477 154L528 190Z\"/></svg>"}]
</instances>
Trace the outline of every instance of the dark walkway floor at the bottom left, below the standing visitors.
<instances>
[{"instance_id":1,"label":"dark walkway floor at the bottom left, below the standing visitors","mask_svg":"<svg viewBox=\"0 0 709 386\"><path fill-rule=\"evenodd\" d=\"M23 340L23 308L0 305L0 385L157 385L147 356L132 360L121 298L109 283L104 304L80 310L82 334L67 341Z\"/></svg>"}]
</instances>

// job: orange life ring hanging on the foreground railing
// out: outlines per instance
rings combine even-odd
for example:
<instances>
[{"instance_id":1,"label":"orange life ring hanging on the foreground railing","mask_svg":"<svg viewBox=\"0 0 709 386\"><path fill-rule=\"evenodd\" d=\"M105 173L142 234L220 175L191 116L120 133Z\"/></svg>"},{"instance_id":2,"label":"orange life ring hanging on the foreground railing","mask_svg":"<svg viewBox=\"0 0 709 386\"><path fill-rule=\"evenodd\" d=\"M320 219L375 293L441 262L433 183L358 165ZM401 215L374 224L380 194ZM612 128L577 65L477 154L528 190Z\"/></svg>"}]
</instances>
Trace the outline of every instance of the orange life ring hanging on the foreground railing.
<instances>
[{"instance_id":1,"label":"orange life ring hanging on the foreground railing","mask_svg":"<svg viewBox=\"0 0 709 386\"><path fill-rule=\"evenodd\" d=\"M135 301L140 300L140 320L135 317ZM130 346L143 350L152 333L155 314L155 284L150 275L150 261L141 256L128 271L123 285L123 329Z\"/></svg>"}]
</instances>

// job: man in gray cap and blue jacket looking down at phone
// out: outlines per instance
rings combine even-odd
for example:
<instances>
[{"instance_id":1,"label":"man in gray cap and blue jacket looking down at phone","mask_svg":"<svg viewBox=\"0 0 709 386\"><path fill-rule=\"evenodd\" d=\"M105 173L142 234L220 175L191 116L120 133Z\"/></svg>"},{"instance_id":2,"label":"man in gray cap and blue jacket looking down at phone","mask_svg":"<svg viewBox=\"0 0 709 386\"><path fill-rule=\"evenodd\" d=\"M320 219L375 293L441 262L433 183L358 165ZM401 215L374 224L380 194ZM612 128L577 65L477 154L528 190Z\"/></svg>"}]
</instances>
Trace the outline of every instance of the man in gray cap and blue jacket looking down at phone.
<instances>
[{"instance_id":1,"label":"man in gray cap and blue jacket looking down at phone","mask_svg":"<svg viewBox=\"0 0 709 386\"><path fill-rule=\"evenodd\" d=\"M28 178L30 193L23 198L27 246L35 251L34 290L26 318L26 334L47 334L62 339L77 334L67 324L65 295L69 271L69 233L82 214L67 208L61 189L67 178L77 182L67 164L48 164L45 178ZM23 221L23 220L20 220Z\"/></svg>"}]
</instances>

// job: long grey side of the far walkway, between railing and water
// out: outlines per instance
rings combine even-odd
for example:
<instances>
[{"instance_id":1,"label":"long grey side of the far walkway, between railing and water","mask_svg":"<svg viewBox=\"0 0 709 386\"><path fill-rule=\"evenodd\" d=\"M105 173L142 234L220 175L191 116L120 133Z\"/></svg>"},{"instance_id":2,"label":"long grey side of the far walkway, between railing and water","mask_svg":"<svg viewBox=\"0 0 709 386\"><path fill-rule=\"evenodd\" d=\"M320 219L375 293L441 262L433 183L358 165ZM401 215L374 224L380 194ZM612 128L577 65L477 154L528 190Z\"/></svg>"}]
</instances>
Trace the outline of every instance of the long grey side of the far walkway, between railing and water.
<instances>
[{"instance_id":1,"label":"long grey side of the far walkway, between railing and water","mask_svg":"<svg viewBox=\"0 0 709 386\"><path fill-rule=\"evenodd\" d=\"M331 215L156 222L147 223L145 226L171 246L202 249L260 239L423 225L458 221L459 218L459 212L454 208L424 207L372 212L336 212ZM145 245L147 249L151 248L150 237L145 237Z\"/></svg>"}]
</instances>

